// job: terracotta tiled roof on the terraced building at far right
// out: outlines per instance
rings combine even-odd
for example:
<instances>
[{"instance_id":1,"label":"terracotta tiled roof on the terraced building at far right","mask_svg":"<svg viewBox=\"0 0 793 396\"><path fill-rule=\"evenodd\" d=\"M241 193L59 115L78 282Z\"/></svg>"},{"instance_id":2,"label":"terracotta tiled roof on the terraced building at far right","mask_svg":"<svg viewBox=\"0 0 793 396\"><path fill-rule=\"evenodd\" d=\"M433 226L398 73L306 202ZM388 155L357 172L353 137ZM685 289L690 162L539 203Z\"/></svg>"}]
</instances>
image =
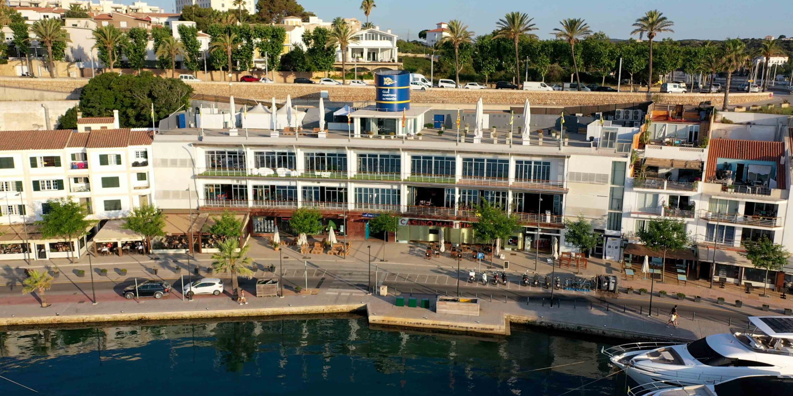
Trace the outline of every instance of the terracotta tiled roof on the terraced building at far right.
<instances>
[{"instance_id":1,"label":"terracotta tiled roof on the terraced building at far right","mask_svg":"<svg viewBox=\"0 0 793 396\"><path fill-rule=\"evenodd\" d=\"M783 142L762 142L757 140L713 139L707 153L705 180L716 175L718 158L770 161L776 163L777 188L786 188L785 172L781 169L780 157L785 153Z\"/></svg>"}]
</instances>

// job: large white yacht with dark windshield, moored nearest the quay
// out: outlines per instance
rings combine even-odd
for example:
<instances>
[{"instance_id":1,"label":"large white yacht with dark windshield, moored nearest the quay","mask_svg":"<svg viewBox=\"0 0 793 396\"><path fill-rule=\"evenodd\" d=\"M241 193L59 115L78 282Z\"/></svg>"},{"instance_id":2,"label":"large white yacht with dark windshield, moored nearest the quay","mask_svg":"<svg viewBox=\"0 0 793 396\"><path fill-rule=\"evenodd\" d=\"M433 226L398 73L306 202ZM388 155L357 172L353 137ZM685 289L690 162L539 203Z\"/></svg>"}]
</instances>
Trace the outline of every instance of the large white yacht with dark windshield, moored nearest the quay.
<instances>
[{"instance_id":1,"label":"large white yacht with dark windshield, moored nearest the quay","mask_svg":"<svg viewBox=\"0 0 793 396\"><path fill-rule=\"evenodd\" d=\"M713 385L749 375L793 375L793 317L750 317L753 330L690 344L634 343L603 349L637 383Z\"/></svg>"}]
</instances>

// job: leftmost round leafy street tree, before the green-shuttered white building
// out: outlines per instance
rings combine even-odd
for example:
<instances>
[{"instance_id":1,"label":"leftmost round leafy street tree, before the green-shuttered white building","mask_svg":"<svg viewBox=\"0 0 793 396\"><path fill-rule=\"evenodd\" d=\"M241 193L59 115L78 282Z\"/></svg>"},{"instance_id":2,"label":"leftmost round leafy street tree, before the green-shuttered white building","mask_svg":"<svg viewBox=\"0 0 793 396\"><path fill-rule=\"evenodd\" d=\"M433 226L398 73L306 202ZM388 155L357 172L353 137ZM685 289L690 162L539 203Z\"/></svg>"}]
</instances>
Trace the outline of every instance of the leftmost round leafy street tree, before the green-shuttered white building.
<instances>
[{"instance_id":1,"label":"leftmost round leafy street tree, before the green-shuttered white building","mask_svg":"<svg viewBox=\"0 0 793 396\"><path fill-rule=\"evenodd\" d=\"M80 238L86 234L86 230L93 227L96 223L88 220L88 208L84 204L72 200L71 196L59 198L57 200L47 200L49 211L46 215L41 215L41 220L36 222L40 227L41 238L52 239L60 238L70 246L70 261L74 257L75 238Z\"/></svg>"}]
</instances>

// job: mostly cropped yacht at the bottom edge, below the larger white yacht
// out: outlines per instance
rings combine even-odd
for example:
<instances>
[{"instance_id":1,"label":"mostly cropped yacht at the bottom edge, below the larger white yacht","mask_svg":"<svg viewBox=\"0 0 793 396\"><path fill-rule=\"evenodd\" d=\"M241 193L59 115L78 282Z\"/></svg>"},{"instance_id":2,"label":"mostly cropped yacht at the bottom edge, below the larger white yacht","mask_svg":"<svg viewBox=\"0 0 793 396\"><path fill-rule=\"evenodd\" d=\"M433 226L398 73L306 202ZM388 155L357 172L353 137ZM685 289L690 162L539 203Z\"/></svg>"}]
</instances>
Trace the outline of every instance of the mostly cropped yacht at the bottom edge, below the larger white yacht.
<instances>
[{"instance_id":1,"label":"mostly cropped yacht at the bottom edge, below the larger white yacht","mask_svg":"<svg viewBox=\"0 0 793 396\"><path fill-rule=\"evenodd\" d=\"M628 396L745 396L790 394L793 376L750 375L715 385L683 386L676 382L646 383L628 389Z\"/></svg>"}]
</instances>

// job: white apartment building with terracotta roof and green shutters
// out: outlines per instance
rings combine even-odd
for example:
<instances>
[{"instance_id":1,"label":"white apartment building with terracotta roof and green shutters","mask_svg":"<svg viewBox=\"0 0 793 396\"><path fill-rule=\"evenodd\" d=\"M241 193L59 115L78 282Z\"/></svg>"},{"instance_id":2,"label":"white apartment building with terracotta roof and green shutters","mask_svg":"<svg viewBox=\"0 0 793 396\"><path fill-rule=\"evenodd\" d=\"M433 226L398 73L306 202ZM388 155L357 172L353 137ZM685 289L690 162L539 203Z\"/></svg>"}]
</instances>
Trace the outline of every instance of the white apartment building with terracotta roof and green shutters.
<instances>
[{"instance_id":1,"label":"white apartment building with terracotta roof and green shutters","mask_svg":"<svg viewBox=\"0 0 793 396\"><path fill-rule=\"evenodd\" d=\"M151 132L108 128L104 119L81 120L85 131L0 132L6 135L0 139L0 224L6 225L0 259L67 257L75 244L75 255L85 250L84 239L71 241L71 247L36 240L34 222L48 212L48 200L79 200L91 219L122 218L152 202ZM30 252L35 257L19 255Z\"/></svg>"}]
</instances>

